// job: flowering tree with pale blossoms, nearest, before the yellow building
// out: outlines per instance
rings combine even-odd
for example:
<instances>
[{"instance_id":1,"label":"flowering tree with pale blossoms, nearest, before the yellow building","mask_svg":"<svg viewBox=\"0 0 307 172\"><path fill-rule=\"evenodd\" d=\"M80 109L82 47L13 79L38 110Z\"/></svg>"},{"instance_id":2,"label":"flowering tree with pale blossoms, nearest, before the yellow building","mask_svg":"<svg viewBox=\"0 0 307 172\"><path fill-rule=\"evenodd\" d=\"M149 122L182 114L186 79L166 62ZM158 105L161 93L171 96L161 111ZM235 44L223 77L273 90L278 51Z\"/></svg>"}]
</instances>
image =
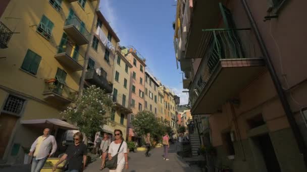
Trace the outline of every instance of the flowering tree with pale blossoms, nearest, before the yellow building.
<instances>
[{"instance_id":1,"label":"flowering tree with pale blossoms, nearest, before the yellow building","mask_svg":"<svg viewBox=\"0 0 307 172\"><path fill-rule=\"evenodd\" d=\"M112 104L111 98L103 90L91 85L84 89L83 95L61 114L67 121L76 123L79 130L90 137L100 131L106 123Z\"/></svg>"}]
</instances>

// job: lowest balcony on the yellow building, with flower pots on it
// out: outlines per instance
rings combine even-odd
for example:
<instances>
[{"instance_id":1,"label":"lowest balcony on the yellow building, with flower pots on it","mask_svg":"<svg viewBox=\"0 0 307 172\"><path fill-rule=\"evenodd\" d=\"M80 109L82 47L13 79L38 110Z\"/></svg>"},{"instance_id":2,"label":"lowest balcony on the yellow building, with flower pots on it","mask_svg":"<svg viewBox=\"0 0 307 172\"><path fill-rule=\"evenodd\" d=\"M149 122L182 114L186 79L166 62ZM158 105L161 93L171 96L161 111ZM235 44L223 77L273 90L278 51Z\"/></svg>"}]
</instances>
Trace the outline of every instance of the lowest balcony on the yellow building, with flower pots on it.
<instances>
[{"instance_id":1,"label":"lowest balcony on the yellow building, with flower pots on it","mask_svg":"<svg viewBox=\"0 0 307 172\"><path fill-rule=\"evenodd\" d=\"M45 81L43 95L46 100L69 104L77 99L78 92L69 88L65 83L61 83L59 80L50 79L49 81Z\"/></svg>"}]
</instances>

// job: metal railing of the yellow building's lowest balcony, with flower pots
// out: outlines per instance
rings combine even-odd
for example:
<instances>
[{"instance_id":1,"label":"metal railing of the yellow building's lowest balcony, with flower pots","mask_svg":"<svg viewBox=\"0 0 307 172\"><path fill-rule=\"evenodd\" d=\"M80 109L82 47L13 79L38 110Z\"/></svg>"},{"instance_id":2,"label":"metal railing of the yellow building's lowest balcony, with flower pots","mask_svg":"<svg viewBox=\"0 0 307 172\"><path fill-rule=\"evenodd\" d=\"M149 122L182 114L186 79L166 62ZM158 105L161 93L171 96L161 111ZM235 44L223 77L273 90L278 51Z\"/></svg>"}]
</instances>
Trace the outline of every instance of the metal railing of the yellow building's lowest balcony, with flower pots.
<instances>
[{"instance_id":1,"label":"metal railing of the yellow building's lowest balcony, with flower pots","mask_svg":"<svg viewBox=\"0 0 307 172\"><path fill-rule=\"evenodd\" d=\"M78 92L68 87L65 83L56 79L45 81L44 93L53 93L74 102L78 97Z\"/></svg>"}]
</instances>

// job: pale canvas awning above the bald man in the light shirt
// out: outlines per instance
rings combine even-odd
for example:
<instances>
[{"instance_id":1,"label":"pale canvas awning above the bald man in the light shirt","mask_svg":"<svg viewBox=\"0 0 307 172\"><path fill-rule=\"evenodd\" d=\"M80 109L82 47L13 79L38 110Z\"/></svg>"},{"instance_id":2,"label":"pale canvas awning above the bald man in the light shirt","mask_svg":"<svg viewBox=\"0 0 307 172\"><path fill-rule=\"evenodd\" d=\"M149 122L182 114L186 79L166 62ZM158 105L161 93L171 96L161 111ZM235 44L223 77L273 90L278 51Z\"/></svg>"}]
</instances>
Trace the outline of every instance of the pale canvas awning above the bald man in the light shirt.
<instances>
[{"instance_id":1,"label":"pale canvas awning above the bald man in the light shirt","mask_svg":"<svg viewBox=\"0 0 307 172\"><path fill-rule=\"evenodd\" d=\"M65 121L56 118L50 119L35 119L35 120L22 120L20 121L21 124L25 125L35 125L36 127L43 127L43 128L50 128L53 129L55 126L59 128L66 129L66 130L75 130L78 127L69 124Z\"/></svg>"}]
</instances>

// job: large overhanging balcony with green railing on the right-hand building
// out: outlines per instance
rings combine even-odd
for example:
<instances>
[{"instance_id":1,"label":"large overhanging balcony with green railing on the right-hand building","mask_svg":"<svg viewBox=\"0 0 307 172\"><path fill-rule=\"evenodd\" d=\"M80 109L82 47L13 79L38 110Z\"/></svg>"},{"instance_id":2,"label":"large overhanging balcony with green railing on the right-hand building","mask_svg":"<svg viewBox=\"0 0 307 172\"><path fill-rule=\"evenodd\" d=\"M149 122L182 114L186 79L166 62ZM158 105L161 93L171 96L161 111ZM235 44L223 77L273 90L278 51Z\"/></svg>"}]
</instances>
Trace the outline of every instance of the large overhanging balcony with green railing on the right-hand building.
<instances>
[{"instance_id":1,"label":"large overhanging balcony with green railing on the right-hand building","mask_svg":"<svg viewBox=\"0 0 307 172\"><path fill-rule=\"evenodd\" d=\"M190 85L192 114L211 114L265 69L249 29L208 29L202 60Z\"/></svg>"}]
</instances>

